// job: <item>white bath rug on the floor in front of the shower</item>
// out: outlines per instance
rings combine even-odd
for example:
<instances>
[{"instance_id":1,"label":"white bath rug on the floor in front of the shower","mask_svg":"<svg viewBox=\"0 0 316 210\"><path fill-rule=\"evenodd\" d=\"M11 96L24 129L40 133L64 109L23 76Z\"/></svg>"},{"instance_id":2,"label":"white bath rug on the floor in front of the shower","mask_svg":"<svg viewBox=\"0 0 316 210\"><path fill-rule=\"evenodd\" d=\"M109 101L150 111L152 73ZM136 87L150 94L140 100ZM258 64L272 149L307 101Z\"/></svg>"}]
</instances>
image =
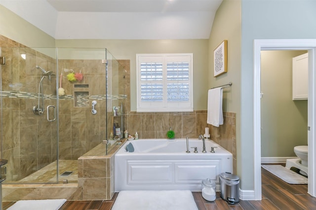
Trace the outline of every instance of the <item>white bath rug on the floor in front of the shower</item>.
<instances>
[{"instance_id":1,"label":"white bath rug on the floor in front of the shower","mask_svg":"<svg viewBox=\"0 0 316 210\"><path fill-rule=\"evenodd\" d=\"M66 199L17 201L7 210L59 210Z\"/></svg>"}]
</instances>

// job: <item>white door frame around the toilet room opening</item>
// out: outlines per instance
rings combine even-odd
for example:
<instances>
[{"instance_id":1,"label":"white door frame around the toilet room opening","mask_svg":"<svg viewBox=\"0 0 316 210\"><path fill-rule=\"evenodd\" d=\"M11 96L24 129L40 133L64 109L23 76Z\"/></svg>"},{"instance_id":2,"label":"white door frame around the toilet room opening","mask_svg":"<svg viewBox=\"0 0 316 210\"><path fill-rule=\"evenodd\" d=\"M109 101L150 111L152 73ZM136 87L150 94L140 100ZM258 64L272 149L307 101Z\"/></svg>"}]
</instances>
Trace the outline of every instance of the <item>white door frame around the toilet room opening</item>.
<instances>
[{"instance_id":1,"label":"white door frame around the toilet room opening","mask_svg":"<svg viewBox=\"0 0 316 210\"><path fill-rule=\"evenodd\" d=\"M308 193L316 197L316 39L255 39L253 48L253 138L254 199L262 199L261 189L261 60L262 50L308 50Z\"/></svg>"}]
</instances>

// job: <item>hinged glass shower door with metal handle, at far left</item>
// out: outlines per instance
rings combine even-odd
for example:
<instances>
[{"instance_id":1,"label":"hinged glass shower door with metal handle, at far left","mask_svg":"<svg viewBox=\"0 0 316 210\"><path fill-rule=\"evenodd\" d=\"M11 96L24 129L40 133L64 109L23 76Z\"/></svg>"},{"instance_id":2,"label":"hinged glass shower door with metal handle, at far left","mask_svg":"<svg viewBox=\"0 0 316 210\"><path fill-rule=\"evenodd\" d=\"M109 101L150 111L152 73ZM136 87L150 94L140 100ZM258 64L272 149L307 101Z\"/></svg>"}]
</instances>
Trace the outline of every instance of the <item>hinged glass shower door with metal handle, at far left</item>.
<instances>
[{"instance_id":1,"label":"hinged glass shower door with metal handle, at far left","mask_svg":"<svg viewBox=\"0 0 316 210\"><path fill-rule=\"evenodd\" d=\"M1 55L1 158L8 160L3 183L55 183L56 49L1 47Z\"/></svg>"}]
</instances>

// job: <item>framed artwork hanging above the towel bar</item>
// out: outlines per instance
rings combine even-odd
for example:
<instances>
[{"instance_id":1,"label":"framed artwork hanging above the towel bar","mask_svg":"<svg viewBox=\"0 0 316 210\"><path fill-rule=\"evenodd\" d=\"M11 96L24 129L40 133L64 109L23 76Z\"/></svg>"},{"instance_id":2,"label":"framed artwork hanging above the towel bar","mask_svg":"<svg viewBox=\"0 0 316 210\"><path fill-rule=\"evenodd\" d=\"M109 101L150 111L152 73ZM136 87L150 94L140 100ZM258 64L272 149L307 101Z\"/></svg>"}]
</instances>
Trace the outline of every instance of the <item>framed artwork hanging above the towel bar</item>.
<instances>
[{"instance_id":1,"label":"framed artwork hanging above the towel bar","mask_svg":"<svg viewBox=\"0 0 316 210\"><path fill-rule=\"evenodd\" d=\"M214 50L214 77L227 72L227 40Z\"/></svg>"}]
</instances>

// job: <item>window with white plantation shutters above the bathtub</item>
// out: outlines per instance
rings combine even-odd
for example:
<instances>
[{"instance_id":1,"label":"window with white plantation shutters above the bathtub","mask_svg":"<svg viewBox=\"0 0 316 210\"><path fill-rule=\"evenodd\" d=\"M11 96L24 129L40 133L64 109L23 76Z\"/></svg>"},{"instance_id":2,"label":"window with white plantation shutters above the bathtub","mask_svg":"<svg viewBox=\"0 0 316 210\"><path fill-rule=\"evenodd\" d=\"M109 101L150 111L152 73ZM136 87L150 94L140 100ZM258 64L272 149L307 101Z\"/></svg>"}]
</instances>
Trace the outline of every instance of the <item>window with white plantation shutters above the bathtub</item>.
<instances>
[{"instance_id":1,"label":"window with white plantation shutters above the bathtub","mask_svg":"<svg viewBox=\"0 0 316 210\"><path fill-rule=\"evenodd\" d=\"M193 54L137 54L137 112L193 111Z\"/></svg>"}]
</instances>

